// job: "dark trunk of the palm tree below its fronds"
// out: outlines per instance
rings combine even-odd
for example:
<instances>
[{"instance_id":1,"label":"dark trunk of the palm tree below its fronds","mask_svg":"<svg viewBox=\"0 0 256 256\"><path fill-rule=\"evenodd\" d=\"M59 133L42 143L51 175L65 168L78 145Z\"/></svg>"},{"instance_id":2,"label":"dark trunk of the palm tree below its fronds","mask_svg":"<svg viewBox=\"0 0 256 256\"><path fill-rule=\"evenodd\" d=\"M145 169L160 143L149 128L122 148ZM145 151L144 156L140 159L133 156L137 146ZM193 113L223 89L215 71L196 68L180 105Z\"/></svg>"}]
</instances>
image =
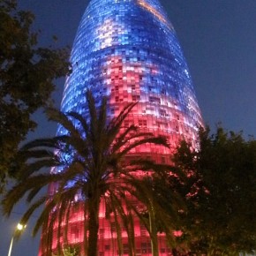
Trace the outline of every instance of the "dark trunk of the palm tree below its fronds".
<instances>
[{"instance_id":1,"label":"dark trunk of the palm tree below its fronds","mask_svg":"<svg viewBox=\"0 0 256 256\"><path fill-rule=\"evenodd\" d=\"M88 201L88 253L87 256L98 255L100 198L95 196Z\"/></svg>"}]
</instances>

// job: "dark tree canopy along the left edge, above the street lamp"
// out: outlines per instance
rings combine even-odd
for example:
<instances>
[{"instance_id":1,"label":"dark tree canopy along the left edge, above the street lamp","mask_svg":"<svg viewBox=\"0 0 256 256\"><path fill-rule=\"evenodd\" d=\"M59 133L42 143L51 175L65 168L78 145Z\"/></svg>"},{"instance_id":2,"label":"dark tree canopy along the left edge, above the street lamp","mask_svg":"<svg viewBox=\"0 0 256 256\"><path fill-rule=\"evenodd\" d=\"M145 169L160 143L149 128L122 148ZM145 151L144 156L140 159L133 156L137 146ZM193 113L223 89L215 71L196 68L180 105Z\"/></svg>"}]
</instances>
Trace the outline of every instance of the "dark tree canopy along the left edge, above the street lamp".
<instances>
[{"instance_id":1,"label":"dark tree canopy along the left edge, above the street lamp","mask_svg":"<svg viewBox=\"0 0 256 256\"><path fill-rule=\"evenodd\" d=\"M11 174L20 141L36 127L31 115L49 104L55 80L69 70L67 49L38 46L34 15L0 0L0 178Z\"/></svg>"}]
</instances>

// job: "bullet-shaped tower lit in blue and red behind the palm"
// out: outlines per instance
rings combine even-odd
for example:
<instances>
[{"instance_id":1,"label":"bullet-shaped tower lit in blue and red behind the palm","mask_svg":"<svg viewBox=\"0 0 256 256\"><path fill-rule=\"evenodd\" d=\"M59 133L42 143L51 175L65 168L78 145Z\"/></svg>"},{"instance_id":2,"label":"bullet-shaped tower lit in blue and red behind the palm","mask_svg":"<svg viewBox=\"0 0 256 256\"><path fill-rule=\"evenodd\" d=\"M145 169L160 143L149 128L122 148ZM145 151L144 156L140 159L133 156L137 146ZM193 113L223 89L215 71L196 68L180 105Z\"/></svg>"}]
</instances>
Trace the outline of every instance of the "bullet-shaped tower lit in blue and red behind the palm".
<instances>
[{"instance_id":1,"label":"bullet-shaped tower lit in blue and red behind the palm","mask_svg":"<svg viewBox=\"0 0 256 256\"><path fill-rule=\"evenodd\" d=\"M177 35L158 0L91 0L73 43L72 74L66 79L61 110L87 115L86 92L96 102L108 97L108 117L117 117L128 102L138 102L124 126L139 126L169 139L169 148L136 147L134 155L147 155L156 162L169 162L177 143L186 139L195 146L198 127L203 125L192 79ZM64 132L59 127L57 134ZM82 205L82 203L81 203ZM71 209L68 242L82 247L83 207ZM100 207L98 255L120 255L117 234ZM136 255L152 255L146 228L134 218ZM53 230L55 232L56 230ZM48 230L42 230L42 237ZM122 232L124 255L127 235ZM159 234L159 255L172 255ZM53 239L52 251L61 239ZM117 239L116 239L117 240ZM81 255L82 252L80 252ZM41 245L39 255L44 255Z\"/></svg>"}]
</instances>

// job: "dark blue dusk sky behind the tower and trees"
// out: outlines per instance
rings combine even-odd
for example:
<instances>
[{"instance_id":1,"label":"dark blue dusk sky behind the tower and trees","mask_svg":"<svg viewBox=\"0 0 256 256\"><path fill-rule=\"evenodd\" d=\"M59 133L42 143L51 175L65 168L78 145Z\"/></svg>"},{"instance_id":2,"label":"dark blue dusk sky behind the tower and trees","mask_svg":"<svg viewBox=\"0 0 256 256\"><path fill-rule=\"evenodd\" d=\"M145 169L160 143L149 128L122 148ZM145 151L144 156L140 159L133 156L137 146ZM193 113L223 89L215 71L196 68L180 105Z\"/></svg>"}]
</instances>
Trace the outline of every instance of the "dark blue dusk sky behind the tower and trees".
<instances>
[{"instance_id":1,"label":"dark blue dusk sky behind the tower and trees","mask_svg":"<svg viewBox=\"0 0 256 256\"><path fill-rule=\"evenodd\" d=\"M19 6L35 13L34 29L41 29L40 43L47 46L51 35L57 47L70 45L87 0L18 0ZM256 136L256 1L255 0L161 0L177 31L188 62L202 116L212 129L225 129ZM54 95L62 97L64 80ZM31 138L52 136L41 113L35 116L39 129ZM24 207L20 205L0 222L0 255L7 255L11 232ZM13 256L36 256L39 237L32 239L28 227L13 246Z\"/></svg>"}]
</instances>

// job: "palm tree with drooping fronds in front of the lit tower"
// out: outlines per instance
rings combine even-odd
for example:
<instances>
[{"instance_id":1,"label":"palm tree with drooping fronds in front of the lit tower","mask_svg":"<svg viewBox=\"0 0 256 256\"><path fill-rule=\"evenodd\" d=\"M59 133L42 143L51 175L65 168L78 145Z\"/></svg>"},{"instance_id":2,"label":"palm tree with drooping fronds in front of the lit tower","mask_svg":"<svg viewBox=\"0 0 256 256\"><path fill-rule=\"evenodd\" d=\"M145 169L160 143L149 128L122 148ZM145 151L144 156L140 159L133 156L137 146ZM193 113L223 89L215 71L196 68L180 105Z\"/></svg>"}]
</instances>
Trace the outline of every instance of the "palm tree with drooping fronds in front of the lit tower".
<instances>
[{"instance_id":1,"label":"palm tree with drooping fronds in front of the lit tower","mask_svg":"<svg viewBox=\"0 0 256 256\"><path fill-rule=\"evenodd\" d=\"M10 215L12 208L24 196L29 206L21 222L28 222L34 211L41 205L44 206L33 232L35 235L41 227L48 230L44 241L47 250L43 255L51 255L52 230L58 223L60 236L60 220L68 221L71 206L78 200L84 207L83 250L86 255L97 255L99 207L102 201L105 201L109 214L114 216L119 237L118 220L121 218L131 245L130 255L135 254L132 215L138 215L142 220L143 217L141 209L132 206L131 197L140 201L146 211L149 208L151 211L152 208L159 210L160 206L143 177L138 178L134 173L138 169L142 172L150 169L153 173L164 172L166 169L151 169L148 162L148 168L146 165L142 167L139 161L127 162L125 155L134 147L146 143L169 147L167 140L161 136L154 137L152 133L139 132L138 127L133 124L123 127L125 117L135 104L127 104L117 117L109 120L107 99L103 98L97 108L92 93L88 91L88 118L75 112L64 114L49 109L50 119L62 125L64 135L35 139L20 148L19 157L23 164L16 166L19 181L4 197L4 214ZM45 172L42 171L43 168L53 169ZM41 196L41 190L49 184L55 187L54 192ZM148 227L147 221L145 224ZM149 228L148 231L151 232ZM58 246L60 252L60 245ZM122 253L122 244L118 243L118 247Z\"/></svg>"}]
</instances>

